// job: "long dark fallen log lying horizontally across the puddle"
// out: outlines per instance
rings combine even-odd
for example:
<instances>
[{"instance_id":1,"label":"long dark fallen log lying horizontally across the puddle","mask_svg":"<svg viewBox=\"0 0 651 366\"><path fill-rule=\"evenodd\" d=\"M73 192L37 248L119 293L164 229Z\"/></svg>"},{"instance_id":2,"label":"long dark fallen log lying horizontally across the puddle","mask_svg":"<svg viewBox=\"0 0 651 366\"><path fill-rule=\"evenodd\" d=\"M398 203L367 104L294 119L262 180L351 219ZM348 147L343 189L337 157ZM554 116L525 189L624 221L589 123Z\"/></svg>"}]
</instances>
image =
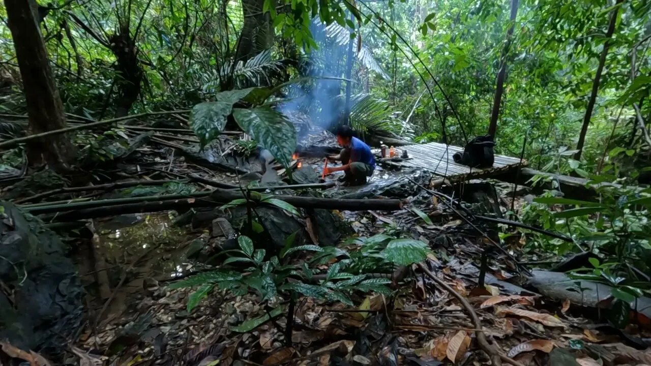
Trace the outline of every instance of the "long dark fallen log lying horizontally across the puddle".
<instances>
[{"instance_id":1,"label":"long dark fallen log lying horizontally across the puddle","mask_svg":"<svg viewBox=\"0 0 651 366\"><path fill-rule=\"evenodd\" d=\"M76 219L102 218L118 214L136 214L169 210L187 210L196 207L215 207L230 203L234 199L243 199L244 195L236 190L215 190L192 193L190 195L161 195L135 197L128 199L106 199L102 201L78 202L70 204L53 204L22 207L33 215L56 214L49 219L70 221ZM298 208L324 208L326 210L393 211L402 209L398 199L330 199L317 197L299 197L274 195ZM252 197L251 201L259 202Z\"/></svg>"}]
</instances>

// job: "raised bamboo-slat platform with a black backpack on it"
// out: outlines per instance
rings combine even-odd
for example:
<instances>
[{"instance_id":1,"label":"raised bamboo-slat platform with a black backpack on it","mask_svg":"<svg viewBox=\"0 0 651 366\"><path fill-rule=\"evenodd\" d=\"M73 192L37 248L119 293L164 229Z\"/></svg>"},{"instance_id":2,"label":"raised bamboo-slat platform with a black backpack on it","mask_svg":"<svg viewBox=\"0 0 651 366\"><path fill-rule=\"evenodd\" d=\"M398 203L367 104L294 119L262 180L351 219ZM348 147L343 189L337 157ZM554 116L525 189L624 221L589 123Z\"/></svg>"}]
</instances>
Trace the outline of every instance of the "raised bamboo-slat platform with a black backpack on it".
<instances>
[{"instance_id":1,"label":"raised bamboo-slat platform with a black backpack on it","mask_svg":"<svg viewBox=\"0 0 651 366\"><path fill-rule=\"evenodd\" d=\"M402 167L417 167L427 169L434 175L448 178L450 180L467 180L474 178L485 178L487 176L500 175L510 171L516 171L527 165L526 160L520 162L519 158L511 156L495 155L495 163L491 168L471 168L454 162L452 155L456 152L463 154L464 148L445 145L441 143L426 143L420 145L406 145L395 147L396 156L402 155L402 150L407 150L408 160L391 162ZM380 160L381 162L381 160Z\"/></svg>"}]
</instances>

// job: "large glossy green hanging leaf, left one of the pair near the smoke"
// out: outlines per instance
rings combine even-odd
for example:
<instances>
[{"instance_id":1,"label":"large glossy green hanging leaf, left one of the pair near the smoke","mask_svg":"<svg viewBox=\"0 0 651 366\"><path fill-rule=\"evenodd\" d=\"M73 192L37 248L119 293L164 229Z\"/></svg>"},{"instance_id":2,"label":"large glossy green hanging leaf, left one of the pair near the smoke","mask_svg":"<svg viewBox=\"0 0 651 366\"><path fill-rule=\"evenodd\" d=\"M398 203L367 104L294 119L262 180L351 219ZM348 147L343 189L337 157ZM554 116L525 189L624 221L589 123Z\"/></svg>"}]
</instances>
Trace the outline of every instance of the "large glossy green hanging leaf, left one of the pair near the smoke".
<instances>
[{"instance_id":1,"label":"large glossy green hanging leaf, left one of the pair near the smoke","mask_svg":"<svg viewBox=\"0 0 651 366\"><path fill-rule=\"evenodd\" d=\"M199 103L192 108L190 128L199 137L201 145L206 145L224 130L226 119L233 110L233 104L247 96L253 89L255 88L219 92L215 96L215 102Z\"/></svg>"}]
</instances>

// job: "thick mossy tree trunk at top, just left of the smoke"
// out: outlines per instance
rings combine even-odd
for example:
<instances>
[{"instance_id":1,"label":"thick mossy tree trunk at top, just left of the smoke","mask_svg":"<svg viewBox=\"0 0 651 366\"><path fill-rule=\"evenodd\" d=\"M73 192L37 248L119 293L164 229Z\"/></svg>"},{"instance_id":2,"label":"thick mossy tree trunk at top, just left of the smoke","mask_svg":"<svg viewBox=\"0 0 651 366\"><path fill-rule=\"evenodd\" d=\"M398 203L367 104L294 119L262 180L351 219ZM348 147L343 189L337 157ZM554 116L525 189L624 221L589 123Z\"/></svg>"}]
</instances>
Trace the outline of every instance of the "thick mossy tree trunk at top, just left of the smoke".
<instances>
[{"instance_id":1,"label":"thick mossy tree trunk at top, just left of the smoke","mask_svg":"<svg viewBox=\"0 0 651 366\"><path fill-rule=\"evenodd\" d=\"M273 46L273 24L268 12L262 12L264 0L242 0L244 23L235 51L235 61L246 62ZM271 1L275 7L275 1Z\"/></svg>"}]
</instances>

